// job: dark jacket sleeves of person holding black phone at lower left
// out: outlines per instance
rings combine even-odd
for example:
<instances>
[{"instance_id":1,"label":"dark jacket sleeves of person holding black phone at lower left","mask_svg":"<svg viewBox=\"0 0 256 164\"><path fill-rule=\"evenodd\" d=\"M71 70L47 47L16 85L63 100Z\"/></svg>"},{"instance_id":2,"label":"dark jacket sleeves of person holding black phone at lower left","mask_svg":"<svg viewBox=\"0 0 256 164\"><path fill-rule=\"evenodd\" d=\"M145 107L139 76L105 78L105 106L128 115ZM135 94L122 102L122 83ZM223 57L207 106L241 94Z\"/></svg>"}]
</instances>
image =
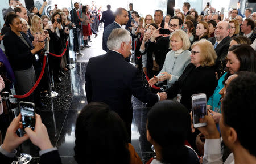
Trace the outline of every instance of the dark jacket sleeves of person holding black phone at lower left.
<instances>
[{"instance_id":1,"label":"dark jacket sleeves of person holding black phone at lower left","mask_svg":"<svg viewBox=\"0 0 256 164\"><path fill-rule=\"evenodd\" d=\"M0 159L1 163L11 163L14 160L17 160L16 158L9 158L0 153ZM52 152L48 152L40 156L40 164L61 164L60 154L57 150L54 150Z\"/></svg>"}]
</instances>

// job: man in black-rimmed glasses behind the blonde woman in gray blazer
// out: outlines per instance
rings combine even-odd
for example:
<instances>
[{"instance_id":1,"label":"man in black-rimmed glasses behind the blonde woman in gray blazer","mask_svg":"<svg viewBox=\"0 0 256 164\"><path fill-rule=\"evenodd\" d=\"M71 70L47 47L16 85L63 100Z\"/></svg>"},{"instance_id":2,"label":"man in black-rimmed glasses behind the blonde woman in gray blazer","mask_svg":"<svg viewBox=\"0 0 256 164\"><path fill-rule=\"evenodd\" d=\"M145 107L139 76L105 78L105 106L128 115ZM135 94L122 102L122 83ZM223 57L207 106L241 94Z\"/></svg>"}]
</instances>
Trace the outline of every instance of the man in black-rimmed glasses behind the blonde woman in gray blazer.
<instances>
[{"instance_id":1,"label":"man in black-rimmed glasses behind the blonde woman in gray blazer","mask_svg":"<svg viewBox=\"0 0 256 164\"><path fill-rule=\"evenodd\" d=\"M168 26L169 26L168 27L169 31L172 33L176 29L182 28L182 20L177 16L173 16ZM168 53L168 51L170 51L169 49L170 39L169 39L169 36L167 36L167 37L161 37L159 38L159 40L156 40L156 38L158 38L159 36L163 36L162 34L159 33L159 29L160 28L156 29L156 31L152 34L150 41L148 41L147 51L152 51L155 53L155 56L158 55L161 58L160 61L162 62L158 64L159 64L159 69L162 70L164 60L166 59L166 54Z\"/></svg>"}]
</instances>

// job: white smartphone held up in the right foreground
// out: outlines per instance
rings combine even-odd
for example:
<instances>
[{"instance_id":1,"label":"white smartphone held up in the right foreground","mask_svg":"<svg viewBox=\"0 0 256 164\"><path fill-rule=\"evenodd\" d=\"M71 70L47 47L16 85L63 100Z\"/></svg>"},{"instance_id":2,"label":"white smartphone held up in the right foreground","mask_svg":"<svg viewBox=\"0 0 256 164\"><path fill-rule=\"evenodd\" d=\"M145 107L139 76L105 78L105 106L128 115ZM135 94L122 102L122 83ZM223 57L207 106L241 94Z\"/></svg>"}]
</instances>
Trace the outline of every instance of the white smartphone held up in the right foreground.
<instances>
[{"instance_id":1,"label":"white smartphone held up in the right foreground","mask_svg":"<svg viewBox=\"0 0 256 164\"><path fill-rule=\"evenodd\" d=\"M207 115L207 97L205 93L192 95L192 114L195 128L207 125L205 122L200 122Z\"/></svg>"}]
</instances>

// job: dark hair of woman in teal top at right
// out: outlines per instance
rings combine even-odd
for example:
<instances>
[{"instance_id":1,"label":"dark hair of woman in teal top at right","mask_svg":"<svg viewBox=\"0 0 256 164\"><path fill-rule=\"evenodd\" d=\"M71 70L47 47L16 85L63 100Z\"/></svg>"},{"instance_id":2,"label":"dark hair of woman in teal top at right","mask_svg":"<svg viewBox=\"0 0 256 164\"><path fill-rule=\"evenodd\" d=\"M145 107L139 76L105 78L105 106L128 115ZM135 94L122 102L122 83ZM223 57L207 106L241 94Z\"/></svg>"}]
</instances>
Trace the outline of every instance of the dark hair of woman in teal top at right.
<instances>
[{"instance_id":1,"label":"dark hair of woman in teal top at right","mask_svg":"<svg viewBox=\"0 0 256 164\"><path fill-rule=\"evenodd\" d=\"M240 61L239 71L256 72L256 54L250 45L233 45L231 48L229 48L229 51L232 51L232 53L234 53L237 56L237 59ZM225 84L226 80L231 75L232 74L228 70L223 84Z\"/></svg>"}]
</instances>

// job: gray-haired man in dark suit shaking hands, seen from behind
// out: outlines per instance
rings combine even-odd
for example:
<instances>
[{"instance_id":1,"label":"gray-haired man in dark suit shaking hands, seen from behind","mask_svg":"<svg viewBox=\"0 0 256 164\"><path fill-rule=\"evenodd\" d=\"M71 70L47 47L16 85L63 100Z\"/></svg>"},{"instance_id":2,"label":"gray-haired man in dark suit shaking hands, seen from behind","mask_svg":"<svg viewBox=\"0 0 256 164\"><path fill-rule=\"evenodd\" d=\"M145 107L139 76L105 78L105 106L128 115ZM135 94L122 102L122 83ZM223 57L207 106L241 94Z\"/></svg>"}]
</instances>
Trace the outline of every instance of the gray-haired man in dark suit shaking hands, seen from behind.
<instances>
[{"instance_id":1,"label":"gray-haired man in dark suit shaking hands, seen from behind","mask_svg":"<svg viewBox=\"0 0 256 164\"><path fill-rule=\"evenodd\" d=\"M166 97L145 90L139 70L125 61L131 50L129 31L113 29L108 38L108 49L106 54L89 59L85 72L87 101L108 104L126 123L131 137L131 96L150 105Z\"/></svg>"}]
</instances>

